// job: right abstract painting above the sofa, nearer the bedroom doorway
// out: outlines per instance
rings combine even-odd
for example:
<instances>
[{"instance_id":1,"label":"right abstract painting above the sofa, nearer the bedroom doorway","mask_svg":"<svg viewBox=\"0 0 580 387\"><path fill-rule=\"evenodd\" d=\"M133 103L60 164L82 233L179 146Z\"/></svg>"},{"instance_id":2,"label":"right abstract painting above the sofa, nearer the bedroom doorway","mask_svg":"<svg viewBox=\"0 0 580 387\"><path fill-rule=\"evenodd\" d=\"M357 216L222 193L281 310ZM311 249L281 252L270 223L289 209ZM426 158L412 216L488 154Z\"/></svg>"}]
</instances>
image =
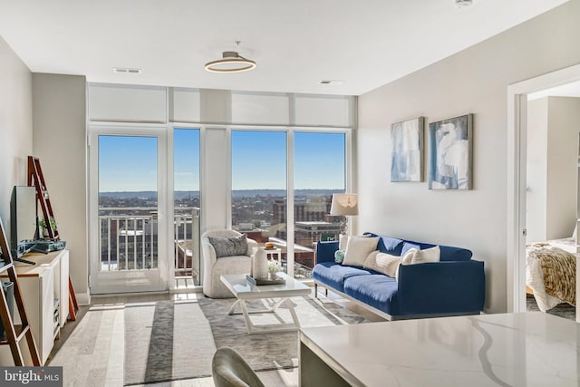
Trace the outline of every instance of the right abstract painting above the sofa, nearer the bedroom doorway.
<instances>
[{"instance_id":1,"label":"right abstract painting above the sofa, nearer the bedroom doorway","mask_svg":"<svg viewBox=\"0 0 580 387\"><path fill-rule=\"evenodd\" d=\"M471 189L473 114L429 124L429 189Z\"/></svg>"}]
</instances>

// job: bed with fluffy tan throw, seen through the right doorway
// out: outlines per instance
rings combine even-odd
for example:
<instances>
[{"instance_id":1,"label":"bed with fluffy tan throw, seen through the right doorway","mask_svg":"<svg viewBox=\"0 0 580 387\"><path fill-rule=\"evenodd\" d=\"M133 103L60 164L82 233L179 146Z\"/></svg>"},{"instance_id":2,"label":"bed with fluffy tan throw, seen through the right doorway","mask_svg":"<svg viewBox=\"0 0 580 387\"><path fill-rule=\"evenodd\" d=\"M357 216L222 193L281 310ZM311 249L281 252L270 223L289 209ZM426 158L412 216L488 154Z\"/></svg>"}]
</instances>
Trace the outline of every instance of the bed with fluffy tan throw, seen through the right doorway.
<instances>
[{"instance_id":1,"label":"bed with fluffy tan throw, seen through the right doorway","mask_svg":"<svg viewBox=\"0 0 580 387\"><path fill-rule=\"evenodd\" d=\"M562 303L575 305L576 251L575 237L526 246L527 292L542 312Z\"/></svg>"}]
</instances>

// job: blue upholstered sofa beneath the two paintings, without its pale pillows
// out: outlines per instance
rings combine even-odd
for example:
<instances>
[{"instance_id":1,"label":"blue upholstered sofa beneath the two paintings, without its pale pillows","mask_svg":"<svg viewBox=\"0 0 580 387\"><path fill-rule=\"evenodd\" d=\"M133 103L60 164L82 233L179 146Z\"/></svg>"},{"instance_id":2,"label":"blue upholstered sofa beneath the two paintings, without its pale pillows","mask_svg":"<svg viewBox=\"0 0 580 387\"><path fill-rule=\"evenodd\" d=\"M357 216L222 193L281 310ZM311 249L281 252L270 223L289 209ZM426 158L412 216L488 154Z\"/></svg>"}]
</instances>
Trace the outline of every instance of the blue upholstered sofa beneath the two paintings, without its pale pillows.
<instances>
[{"instance_id":1,"label":"blue upholstered sofa beneath the two paintings, without its pale pillows","mask_svg":"<svg viewBox=\"0 0 580 387\"><path fill-rule=\"evenodd\" d=\"M380 237L377 249L401 256L409 248L435 245L393 237ZM440 246L440 262L399 266L398 281L371 269L334 262L338 242L318 242L313 270L318 285L362 303L389 320L479 314L485 302L483 262L471 259L470 250ZM401 254L402 253L402 254Z\"/></svg>"}]
</instances>

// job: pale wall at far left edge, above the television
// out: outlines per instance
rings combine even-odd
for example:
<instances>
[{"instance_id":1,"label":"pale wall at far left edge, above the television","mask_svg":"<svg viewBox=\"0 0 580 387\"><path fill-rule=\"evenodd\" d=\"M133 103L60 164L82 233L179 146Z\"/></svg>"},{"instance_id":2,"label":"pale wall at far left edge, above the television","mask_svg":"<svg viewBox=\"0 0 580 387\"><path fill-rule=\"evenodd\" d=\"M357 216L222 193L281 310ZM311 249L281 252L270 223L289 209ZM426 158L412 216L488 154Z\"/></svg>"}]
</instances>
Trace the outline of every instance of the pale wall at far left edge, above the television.
<instances>
[{"instance_id":1,"label":"pale wall at far left edge, above the television","mask_svg":"<svg viewBox=\"0 0 580 387\"><path fill-rule=\"evenodd\" d=\"M10 240L10 197L26 185L26 160L33 151L33 77L0 37L0 218Z\"/></svg>"}]
</instances>

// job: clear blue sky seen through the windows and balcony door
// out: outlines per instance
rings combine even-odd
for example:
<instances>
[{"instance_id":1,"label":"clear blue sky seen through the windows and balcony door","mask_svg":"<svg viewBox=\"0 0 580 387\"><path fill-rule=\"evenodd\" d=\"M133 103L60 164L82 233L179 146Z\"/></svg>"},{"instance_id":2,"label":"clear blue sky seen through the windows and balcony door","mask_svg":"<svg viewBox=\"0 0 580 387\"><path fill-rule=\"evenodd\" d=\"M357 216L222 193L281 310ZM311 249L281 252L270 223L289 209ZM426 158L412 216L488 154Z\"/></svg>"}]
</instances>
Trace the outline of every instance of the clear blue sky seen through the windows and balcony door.
<instances>
[{"instance_id":1,"label":"clear blue sky seen through the windows and balcony door","mask_svg":"<svg viewBox=\"0 0 580 387\"><path fill-rule=\"evenodd\" d=\"M343 133L295 132L295 189L344 189ZM157 139L99 137L99 191L157 188ZM199 131L174 131L176 190L199 189ZM286 188L286 133L232 131L232 189Z\"/></svg>"}]
</instances>

